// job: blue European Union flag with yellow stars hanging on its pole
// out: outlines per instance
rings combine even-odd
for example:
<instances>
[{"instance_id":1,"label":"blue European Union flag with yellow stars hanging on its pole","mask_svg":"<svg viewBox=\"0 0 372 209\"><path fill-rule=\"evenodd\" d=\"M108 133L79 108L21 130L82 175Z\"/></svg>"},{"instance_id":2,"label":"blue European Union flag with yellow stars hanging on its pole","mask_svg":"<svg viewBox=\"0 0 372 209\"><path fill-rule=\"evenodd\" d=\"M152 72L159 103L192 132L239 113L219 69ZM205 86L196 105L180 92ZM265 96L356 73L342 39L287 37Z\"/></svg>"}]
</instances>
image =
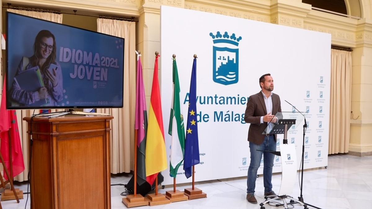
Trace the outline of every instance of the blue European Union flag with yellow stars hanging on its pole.
<instances>
[{"instance_id":1,"label":"blue European Union flag with yellow stars hanging on its pole","mask_svg":"<svg viewBox=\"0 0 372 209\"><path fill-rule=\"evenodd\" d=\"M186 178L192 176L192 166L199 164L199 141L198 141L198 119L196 118L196 58L192 64L189 110L187 113L186 140L185 140L185 159L183 170Z\"/></svg>"}]
</instances>

